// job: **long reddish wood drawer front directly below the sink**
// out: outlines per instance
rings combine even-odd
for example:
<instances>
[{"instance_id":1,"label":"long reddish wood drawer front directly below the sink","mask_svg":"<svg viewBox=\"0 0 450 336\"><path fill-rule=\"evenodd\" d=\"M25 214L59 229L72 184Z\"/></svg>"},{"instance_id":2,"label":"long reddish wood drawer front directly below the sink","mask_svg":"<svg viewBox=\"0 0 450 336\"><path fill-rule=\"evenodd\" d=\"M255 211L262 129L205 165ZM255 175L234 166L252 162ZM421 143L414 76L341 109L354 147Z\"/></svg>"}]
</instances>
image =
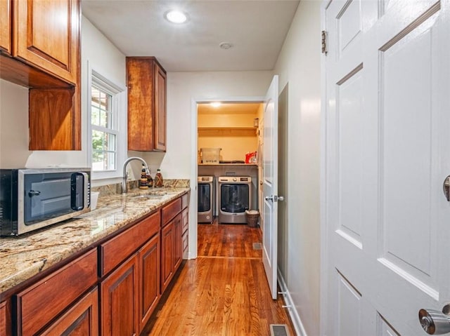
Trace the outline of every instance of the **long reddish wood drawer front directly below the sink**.
<instances>
[{"instance_id":1,"label":"long reddish wood drawer front directly below the sink","mask_svg":"<svg viewBox=\"0 0 450 336\"><path fill-rule=\"evenodd\" d=\"M101 276L109 273L160 230L160 213L127 229L100 246Z\"/></svg>"}]
</instances>

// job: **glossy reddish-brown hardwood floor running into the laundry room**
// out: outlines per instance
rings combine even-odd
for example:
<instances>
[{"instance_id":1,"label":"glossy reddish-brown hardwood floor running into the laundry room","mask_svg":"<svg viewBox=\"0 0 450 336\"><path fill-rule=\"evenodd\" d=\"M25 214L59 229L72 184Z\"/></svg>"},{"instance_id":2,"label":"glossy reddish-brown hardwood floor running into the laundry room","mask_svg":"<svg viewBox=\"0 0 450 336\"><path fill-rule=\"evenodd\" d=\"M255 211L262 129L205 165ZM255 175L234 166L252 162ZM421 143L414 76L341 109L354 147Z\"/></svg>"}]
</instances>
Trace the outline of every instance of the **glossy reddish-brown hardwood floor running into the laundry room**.
<instances>
[{"instance_id":1,"label":"glossy reddish-brown hardwood floor running into the laundry room","mask_svg":"<svg viewBox=\"0 0 450 336\"><path fill-rule=\"evenodd\" d=\"M258 243L261 231L245 224L199 224L198 258L185 262L142 335L264 336L287 324L294 336L281 295L271 299Z\"/></svg>"}]
</instances>

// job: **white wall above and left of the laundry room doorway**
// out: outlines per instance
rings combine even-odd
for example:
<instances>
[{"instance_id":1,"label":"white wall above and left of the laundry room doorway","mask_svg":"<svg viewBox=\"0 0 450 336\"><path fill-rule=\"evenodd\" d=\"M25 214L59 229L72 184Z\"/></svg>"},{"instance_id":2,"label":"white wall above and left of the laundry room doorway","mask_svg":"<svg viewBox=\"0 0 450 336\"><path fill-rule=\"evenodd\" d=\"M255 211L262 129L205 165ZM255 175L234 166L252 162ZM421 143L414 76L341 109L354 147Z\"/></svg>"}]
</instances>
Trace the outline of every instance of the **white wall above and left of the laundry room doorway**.
<instances>
[{"instance_id":1,"label":"white wall above and left of the laundry room doorway","mask_svg":"<svg viewBox=\"0 0 450 336\"><path fill-rule=\"evenodd\" d=\"M164 67L164 64L162 65ZM165 178L191 178L193 100L264 96L271 72L169 72L167 73L167 152L161 160ZM161 154L143 155L148 162ZM195 156L196 159L196 156Z\"/></svg>"}]
</instances>

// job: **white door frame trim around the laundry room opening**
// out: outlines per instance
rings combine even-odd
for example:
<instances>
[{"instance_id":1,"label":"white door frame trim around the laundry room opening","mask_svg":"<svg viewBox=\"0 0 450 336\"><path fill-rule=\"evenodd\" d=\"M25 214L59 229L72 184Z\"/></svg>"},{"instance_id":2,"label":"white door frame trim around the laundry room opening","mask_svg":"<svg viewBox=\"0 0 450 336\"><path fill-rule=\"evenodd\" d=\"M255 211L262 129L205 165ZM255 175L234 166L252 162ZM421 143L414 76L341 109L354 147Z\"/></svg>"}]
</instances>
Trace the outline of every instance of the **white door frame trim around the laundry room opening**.
<instances>
[{"instance_id":1,"label":"white door frame trim around the laundry room opening","mask_svg":"<svg viewBox=\"0 0 450 336\"><path fill-rule=\"evenodd\" d=\"M189 252L188 259L197 258L197 177L198 177L198 104L208 102L264 102L264 96L217 96L214 98L192 98L191 99L191 201L189 208Z\"/></svg>"}]
</instances>

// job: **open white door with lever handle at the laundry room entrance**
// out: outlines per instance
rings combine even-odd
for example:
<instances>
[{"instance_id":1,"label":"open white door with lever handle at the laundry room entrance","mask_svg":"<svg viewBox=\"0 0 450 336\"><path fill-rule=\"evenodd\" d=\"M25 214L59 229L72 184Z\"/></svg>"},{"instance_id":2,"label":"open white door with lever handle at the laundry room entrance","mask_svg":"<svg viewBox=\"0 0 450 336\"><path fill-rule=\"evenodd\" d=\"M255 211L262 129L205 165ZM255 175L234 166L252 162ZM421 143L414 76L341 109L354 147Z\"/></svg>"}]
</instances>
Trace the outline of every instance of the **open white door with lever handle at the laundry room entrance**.
<instances>
[{"instance_id":1,"label":"open white door with lever handle at the laundry room entrance","mask_svg":"<svg viewBox=\"0 0 450 336\"><path fill-rule=\"evenodd\" d=\"M278 239L278 76L274 76L264 101L264 155L262 193L262 261L275 300Z\"/></svg>"}]
</instances>

